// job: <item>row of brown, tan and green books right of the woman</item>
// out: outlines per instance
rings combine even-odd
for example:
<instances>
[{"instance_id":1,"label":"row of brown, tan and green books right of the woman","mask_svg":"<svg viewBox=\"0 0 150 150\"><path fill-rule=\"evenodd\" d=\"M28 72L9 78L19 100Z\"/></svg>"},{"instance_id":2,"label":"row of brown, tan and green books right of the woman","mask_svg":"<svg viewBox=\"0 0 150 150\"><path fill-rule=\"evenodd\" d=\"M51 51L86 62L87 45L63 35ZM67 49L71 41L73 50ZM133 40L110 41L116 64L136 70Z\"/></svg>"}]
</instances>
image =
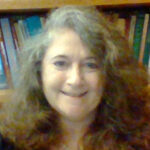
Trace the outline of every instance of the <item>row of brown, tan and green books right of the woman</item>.
<instances>
[{"instance_id":1,"label":"row of brown, tan and green books right of the woman","mask_svg":"<svg viewBox=\"0 0 150 150\"><path fill-rule=\"evenodd\" d=\"M145 65L150 72L150 14L133 12L132 15L124 15L124 13L111 12L106 17L128 40L139 65Z\"/></svg>"}]
</instances>

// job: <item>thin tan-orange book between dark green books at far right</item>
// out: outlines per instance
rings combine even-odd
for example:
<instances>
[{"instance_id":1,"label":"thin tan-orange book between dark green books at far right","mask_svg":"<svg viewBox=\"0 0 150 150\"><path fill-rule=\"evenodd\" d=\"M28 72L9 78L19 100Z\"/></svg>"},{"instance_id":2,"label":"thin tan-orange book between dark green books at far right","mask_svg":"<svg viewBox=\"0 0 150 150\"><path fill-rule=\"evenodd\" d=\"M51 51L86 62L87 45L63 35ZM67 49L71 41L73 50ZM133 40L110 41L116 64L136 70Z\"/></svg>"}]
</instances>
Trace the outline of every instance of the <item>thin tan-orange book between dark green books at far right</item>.
<instances>
[{"instance_id":1,"label":"thin tan-orange book between dark green books at far right","mask_svg":"<svg viewBox=\"0 0 150 150\"><path fill-rule=\"evenodd\" d=\"M139 64L141 64L141 65L143 64L146 34L147 34L147 31L148 31L148 23L149 23L149 14L145 14L143 32L142 32L142 39L141 39L141 45L140 45L139 60L138 60Z\"/></svg>"}]
</instances>

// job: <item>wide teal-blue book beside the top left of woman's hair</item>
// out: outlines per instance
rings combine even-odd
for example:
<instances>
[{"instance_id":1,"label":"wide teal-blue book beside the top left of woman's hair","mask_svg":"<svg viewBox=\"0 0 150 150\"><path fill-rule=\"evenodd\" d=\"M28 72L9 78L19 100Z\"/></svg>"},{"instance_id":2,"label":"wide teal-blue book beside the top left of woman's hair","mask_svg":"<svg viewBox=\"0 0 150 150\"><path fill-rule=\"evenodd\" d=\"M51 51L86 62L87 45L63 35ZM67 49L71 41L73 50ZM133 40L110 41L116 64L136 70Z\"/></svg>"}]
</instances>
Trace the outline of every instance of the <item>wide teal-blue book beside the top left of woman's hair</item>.
<instances>
[{"instance_id":1,"label":"wide teal-blue book beside the top left of woman's hair","mask_svg":"<svg viewBox=\"0 0 150 150\"><path fill-rule=\"evenodd\" d=\"M31 16L25 19L26 28L29 35L32 37L40 33L42 29L42 23L39 16Z\"/></svg>"}]
</instances>

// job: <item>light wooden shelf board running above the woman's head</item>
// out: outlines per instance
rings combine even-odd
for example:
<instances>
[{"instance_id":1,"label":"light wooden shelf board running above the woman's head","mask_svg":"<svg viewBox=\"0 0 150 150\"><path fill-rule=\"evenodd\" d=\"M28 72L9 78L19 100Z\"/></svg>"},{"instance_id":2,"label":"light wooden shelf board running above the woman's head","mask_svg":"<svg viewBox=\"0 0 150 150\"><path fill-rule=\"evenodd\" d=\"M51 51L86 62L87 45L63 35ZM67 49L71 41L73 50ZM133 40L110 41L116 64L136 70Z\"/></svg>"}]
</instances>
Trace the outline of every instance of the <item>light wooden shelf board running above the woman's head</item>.
<instances>
[{"instance_id":1,"label":"light wooden shelf board running above the woman's head","mask_svg":"<svg viewBox=\"0 0 150 150\"><path fill-rule=\"evenodd\" d=\"M150 6L150 0L0 0L0 12L46 10L63 5L100 5L102 7Z\"/></svg>"}]
</instances>

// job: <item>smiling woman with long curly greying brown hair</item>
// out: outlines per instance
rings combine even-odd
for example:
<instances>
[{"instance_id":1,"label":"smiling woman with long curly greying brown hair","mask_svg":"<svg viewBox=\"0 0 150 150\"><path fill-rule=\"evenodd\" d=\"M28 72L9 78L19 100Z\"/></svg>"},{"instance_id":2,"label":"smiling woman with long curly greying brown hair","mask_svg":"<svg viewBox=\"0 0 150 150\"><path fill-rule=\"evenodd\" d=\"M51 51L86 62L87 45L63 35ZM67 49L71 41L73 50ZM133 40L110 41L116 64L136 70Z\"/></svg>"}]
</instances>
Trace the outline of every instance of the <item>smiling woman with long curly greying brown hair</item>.
<instances>
[{"instance_id":1,"label":"smiling woman with long curly greying brown hair","mask_svg":"<svg viewBox=\"0 0 150 150\"><path fill-rule=\"evenodd\" d=\"M16 95L1 109L6 145L148 150L149 77L132 55L126 40L94 8L52 12L41 34L26 45Z\"/></svg>"}]
</instances>

